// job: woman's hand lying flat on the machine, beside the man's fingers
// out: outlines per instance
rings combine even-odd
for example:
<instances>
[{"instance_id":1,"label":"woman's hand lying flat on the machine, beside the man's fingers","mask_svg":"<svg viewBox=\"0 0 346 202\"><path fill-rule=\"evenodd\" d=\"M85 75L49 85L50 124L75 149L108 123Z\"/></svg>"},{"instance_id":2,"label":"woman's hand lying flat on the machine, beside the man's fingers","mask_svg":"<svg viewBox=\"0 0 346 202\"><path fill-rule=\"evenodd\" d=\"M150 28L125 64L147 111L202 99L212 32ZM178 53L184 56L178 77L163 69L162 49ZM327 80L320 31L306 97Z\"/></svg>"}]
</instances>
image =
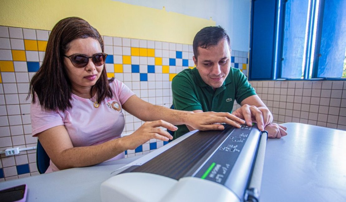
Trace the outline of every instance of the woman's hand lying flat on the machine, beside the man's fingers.
<instances>
[{"instance_id":1,"label":"woman's hand lying flat on the machine, beside the man's fingers","mask_svg":"<svg viewBox=\"0 0 346 202\"><path fill-rule=\"evenodd\" d=\"M224 130L224 125L220 123L227 123L236 128L240 128L240 124L245 123L244 120L228 112L190 113L188 120L189 121L186 125L198 130Z\"/></svg>"}]
</instances>

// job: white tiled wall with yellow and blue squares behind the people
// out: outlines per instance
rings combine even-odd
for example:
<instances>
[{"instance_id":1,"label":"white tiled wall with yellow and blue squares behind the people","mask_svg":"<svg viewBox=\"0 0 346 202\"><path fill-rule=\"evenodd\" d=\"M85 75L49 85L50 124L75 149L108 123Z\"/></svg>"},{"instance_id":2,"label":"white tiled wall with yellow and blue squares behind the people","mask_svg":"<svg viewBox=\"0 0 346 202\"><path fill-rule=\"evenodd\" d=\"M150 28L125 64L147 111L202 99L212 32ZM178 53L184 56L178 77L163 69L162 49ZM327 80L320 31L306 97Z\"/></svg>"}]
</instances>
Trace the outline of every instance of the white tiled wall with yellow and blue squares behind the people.
<instances>
[{"instance_id":1,"label":"white tiled wall with yellow and blue squares behind the people","mask_svg":"<svg viewBox=\"0 0 346 202\"><path fill-rule=\"evenodd\" d=\"M35 147L31 137L30 100L26 100L29 80L44 58L49 31L0 26L0 151ZM109 77L124 82L138 97L152 104L170 107L171 81L181 70L194 67L192 46L104 36ZM231 65L247 74L247 52L232 51ZM124 135L143 124L125 112ZM127 157L142 155L166 142L151 140ZM0 155L0 181L38 174L36 150L18 155Z\"/></svg>"}]
</instances>

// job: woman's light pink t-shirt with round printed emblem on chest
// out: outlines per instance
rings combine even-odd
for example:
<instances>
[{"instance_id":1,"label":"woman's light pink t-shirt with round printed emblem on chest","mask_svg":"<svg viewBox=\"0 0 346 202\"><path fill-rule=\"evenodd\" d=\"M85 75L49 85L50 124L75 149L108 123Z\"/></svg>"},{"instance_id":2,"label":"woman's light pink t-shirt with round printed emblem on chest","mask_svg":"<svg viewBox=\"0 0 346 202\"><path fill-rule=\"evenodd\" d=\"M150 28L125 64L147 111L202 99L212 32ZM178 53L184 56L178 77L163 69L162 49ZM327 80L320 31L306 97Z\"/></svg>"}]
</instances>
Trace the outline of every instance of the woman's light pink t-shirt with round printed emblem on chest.
<instances>
[{"instance_id":1,"label":"woman's light pink t-shirt with round printed emblem on chest","mask_svg":"<svg viewBox=\"0 0 346 202\"><path fill-rule=\"evenodd\" d=\"M121 106L134 93L116 79L109 86L113 97L103 100L98 108L94 107L96 97L85 99L72 94L72 108L65 112L42 110L36 99L36 103L31 103L30 108L33 136L55 126L65 125L73 147L96 145L119 138L125 127ZM121 158L124 158L124 152L110 160ZM59 169L51 161L46 173L57 170Z\"/></svg>"}]
</instances>

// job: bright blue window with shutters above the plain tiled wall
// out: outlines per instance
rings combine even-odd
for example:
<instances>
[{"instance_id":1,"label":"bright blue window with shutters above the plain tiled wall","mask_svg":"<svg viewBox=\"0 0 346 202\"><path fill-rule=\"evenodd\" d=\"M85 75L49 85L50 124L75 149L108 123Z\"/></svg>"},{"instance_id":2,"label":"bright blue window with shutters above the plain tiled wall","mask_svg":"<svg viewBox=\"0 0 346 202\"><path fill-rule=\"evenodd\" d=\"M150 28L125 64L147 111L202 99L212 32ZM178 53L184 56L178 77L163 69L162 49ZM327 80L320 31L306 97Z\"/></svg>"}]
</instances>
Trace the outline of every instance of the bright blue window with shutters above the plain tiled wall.
<instances>
[{"instance_id":1,"label":"bright blue window with shutters above the plain tiled wall","mask_svg":"<svg viewBox=\"0 0 346 202\"><path fill-rule=\"evenodd\" d=\"M343 77L346 1L252 0L251 8L249 79Z\"/></svg>"}]
</instances>

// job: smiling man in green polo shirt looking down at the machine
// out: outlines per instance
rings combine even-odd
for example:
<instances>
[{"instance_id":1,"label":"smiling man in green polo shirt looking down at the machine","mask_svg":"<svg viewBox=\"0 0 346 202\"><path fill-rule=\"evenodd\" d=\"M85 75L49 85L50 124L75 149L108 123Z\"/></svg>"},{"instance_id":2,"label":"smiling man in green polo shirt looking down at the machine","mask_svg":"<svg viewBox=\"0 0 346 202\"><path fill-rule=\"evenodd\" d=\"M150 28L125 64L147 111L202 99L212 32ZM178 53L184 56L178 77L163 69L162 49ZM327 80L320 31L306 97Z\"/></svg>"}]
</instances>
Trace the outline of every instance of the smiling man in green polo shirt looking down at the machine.
<instances>
[{"instance_id":1,"label":"smiling man in green polo shirt looking down at the machine","mask_svg":"<svg viewBox=\"0 0 346 202\"><path fill-rule=\"evenodd\" d=\"M273 115L257 96L245 75L230 67L230 40L226 31L218 27L201 29L193 40L194 69L185 69L172 80L173 105L177 110L193 112L229 112L236 100L241 108L232 114L251 126L257 122L269 138L287 135L286 127L272 123ZM180 125L174 139L194 130Z\"/></svg>"}]
</instances>

